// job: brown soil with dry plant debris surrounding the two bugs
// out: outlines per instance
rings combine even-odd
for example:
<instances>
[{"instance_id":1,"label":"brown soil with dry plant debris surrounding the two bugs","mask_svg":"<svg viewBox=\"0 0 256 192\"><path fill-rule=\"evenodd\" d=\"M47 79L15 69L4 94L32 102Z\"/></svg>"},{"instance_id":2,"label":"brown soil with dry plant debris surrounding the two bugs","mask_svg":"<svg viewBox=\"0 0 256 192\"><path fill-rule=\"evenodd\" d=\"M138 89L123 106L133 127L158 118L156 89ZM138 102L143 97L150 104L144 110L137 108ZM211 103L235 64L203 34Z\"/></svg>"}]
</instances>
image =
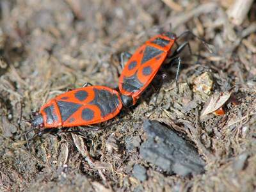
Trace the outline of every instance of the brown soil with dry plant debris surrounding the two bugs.
<instances>
[{"instance_id":1,"label":"brown soil with dry plant debris surrounding the two bugs","mask_svg":"<svg viewBox=\"0 0 256 192\"><path fill-rule=\"evenodd\" d=\"M256 4L234 26L226 14L232 2L2 0L0 191L255 191ZM193 54L182 52L178 83L176 67L165 65L154 88L115 120L169 125L197 148L204 173L168 175L141 159L146 137L140 122L83 138L45 134L29 150L24 132L31 127L19 122L31 110L85 82L116 88L121 52L134 52L159 31L186 30L204 38L211 52L189 38ZM167 76L159 87L161 72ZM202 116L207 100L221 92L231 93L225 115ZM138 145L129 148L129 141ZM144 167L147 179L134 177L134 164Z\"/></svg>"}]
</instances>

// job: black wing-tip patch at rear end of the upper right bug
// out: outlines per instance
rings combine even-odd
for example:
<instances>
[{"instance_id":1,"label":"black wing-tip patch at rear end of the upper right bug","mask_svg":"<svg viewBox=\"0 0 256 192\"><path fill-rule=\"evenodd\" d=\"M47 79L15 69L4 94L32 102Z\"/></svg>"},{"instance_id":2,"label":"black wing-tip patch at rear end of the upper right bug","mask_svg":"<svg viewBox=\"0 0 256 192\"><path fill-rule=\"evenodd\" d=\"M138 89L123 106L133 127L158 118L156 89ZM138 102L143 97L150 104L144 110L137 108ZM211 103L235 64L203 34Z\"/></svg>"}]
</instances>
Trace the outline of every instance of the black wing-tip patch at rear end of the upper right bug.
<instances>
[{"instance_id":1,"label":"black wing-tip patch at rear end of the upper right bug","mask_svg":"<svg viewBox=\"0 0 256 192\"><path fill-rule=\"evenodd\" d=\"M137 77L137 72L131 77L124 77L124 83L122 84L122 88L127 92L138 92L138 90L140 90L140 88L143 86L143 84L139 81Z\"/></svg>"}]
</instances>

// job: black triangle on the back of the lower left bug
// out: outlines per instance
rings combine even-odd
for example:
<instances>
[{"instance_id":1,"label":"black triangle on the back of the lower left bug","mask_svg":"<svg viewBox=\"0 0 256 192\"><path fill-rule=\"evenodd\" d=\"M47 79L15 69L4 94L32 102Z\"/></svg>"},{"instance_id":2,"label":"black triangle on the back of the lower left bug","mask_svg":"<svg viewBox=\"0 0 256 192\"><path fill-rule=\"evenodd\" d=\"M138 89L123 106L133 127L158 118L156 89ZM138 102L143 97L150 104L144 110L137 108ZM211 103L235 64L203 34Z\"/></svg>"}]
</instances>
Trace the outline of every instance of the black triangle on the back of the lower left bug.
<instances>
[{"instance_id":1,"label":"black triangle on the back of the lower left bug","mask_svg":"<svg viewBox=\"0 0 256 192\"><path fill-rule=\"evenodd\" d=\"M74 102L66 102L66 101L57 101L58 107L60 109L60 115L62 122L68 119L71 115L73 115L77 109L81 108L81 104L77 104Z\"/></svg>"}]
</instances>

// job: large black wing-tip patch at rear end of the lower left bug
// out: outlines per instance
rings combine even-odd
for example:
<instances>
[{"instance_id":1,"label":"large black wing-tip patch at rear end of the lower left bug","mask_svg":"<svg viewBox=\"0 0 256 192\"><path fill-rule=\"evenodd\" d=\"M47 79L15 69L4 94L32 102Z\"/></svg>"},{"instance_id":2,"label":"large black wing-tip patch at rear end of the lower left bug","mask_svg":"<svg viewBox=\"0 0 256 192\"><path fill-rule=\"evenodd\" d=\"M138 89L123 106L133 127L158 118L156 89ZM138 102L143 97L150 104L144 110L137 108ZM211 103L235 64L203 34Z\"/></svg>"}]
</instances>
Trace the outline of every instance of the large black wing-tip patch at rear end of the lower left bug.
<instances>
[{"instance_id":1,"label":"large black wing-tip patch at rear end of the lower left bug","mask_svg":"<svg viewBox=\"0 0 256 192\"><path fill-rule=\"evenodd\" d=\"M101 116L107 116L109 113L113 113L117 106L120 104L118 95L113 94L107 90L99 90L93 88L95 98L90 102L100 109Z\"/></svg>"}]
</instances>

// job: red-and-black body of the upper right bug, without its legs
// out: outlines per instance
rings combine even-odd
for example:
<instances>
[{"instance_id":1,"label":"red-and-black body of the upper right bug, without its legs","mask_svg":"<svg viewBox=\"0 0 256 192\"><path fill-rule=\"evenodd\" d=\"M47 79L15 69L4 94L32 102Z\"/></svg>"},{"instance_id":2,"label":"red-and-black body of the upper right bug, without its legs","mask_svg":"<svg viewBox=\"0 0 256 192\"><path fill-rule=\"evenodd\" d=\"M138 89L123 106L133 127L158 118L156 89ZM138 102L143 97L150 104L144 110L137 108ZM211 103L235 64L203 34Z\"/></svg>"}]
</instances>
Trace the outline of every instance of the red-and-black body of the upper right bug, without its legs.
<instances>
[{"instance_id":1,"label":"red-and-black body of the upper right bug, without its legs","mask_svg":"<svg viewBox=\"0 0 256 192\"><path fill-rule=\"evenodd\" d=\"M136 103L170 54L176 39L173 33L156 35L134 52L119 78L122 99L132 97L133 104Z\"/></svg>"}]
</instances>

